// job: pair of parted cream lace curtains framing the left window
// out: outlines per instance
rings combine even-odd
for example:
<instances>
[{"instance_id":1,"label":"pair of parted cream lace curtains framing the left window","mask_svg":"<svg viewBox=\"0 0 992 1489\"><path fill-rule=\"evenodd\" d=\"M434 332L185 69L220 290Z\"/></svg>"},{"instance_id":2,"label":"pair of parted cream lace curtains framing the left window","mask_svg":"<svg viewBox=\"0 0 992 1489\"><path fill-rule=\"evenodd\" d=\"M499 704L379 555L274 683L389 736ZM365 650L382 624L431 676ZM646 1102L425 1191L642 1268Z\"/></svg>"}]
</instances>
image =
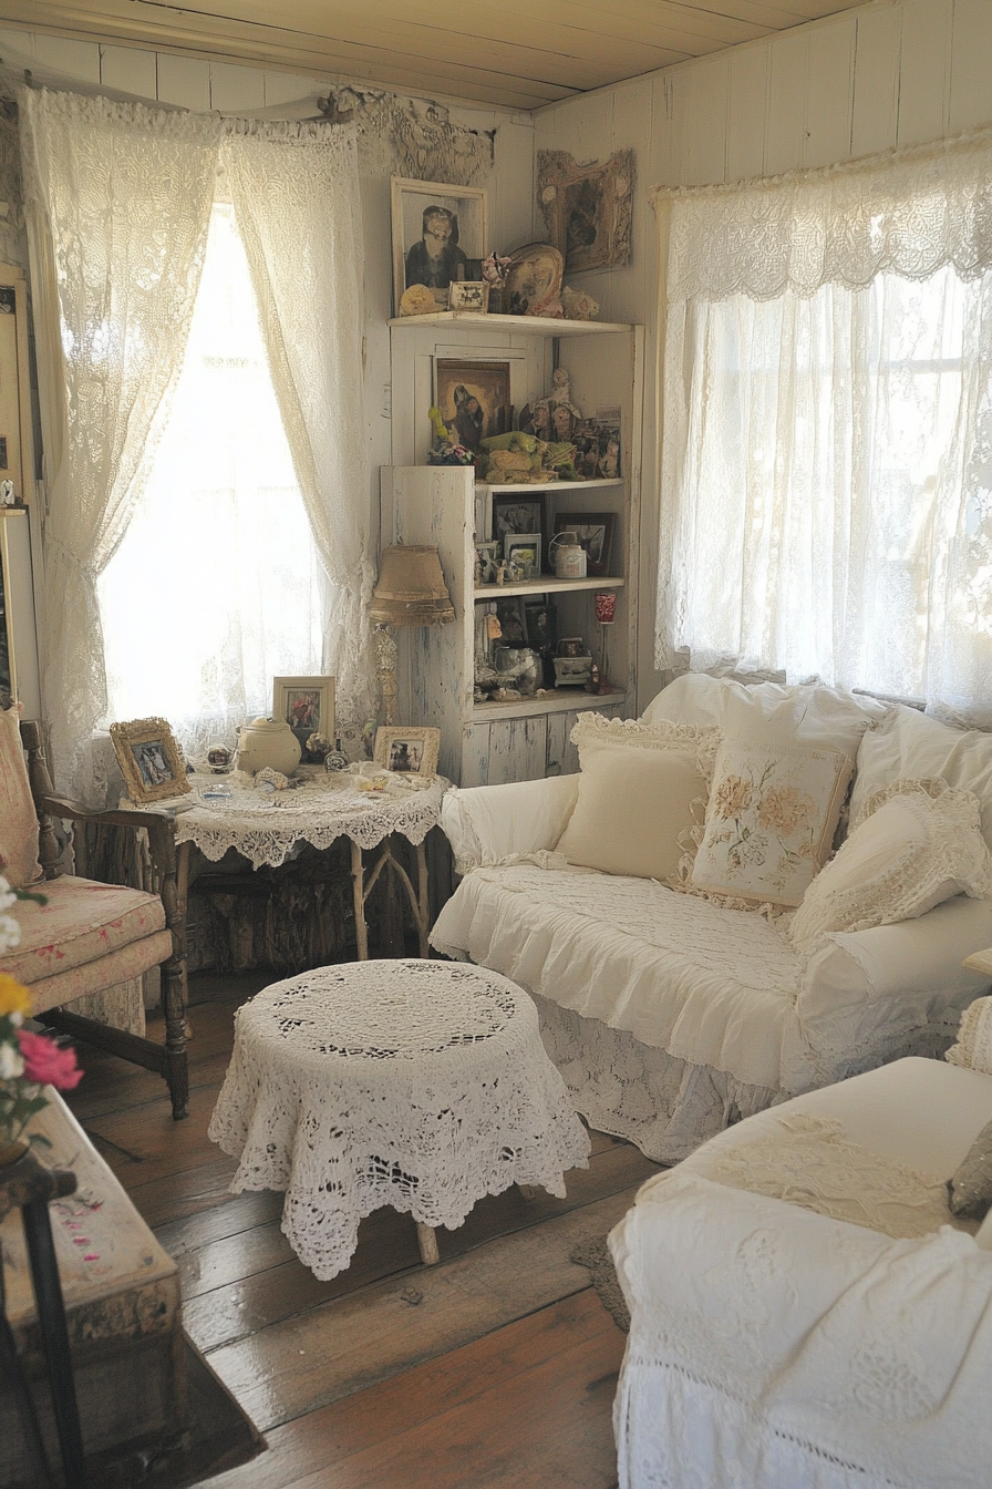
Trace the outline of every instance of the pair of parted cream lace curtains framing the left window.
<instances>
[{"instance_id":1,"label":"pair of parted cream lace curtains framing the left window","mask_svg":"<svg viewBox=\"0 0 992 1489\"><path fill-rule=\"evenodd\" d=\"M49 399L45 411L58 468L42 634L59 782L100 797L91 740L107 724L107 679L97 582L168 417L219 168L314 541L336 585L324 667L345 707L361 715L372 697L363 613L375 570L355 375L363 250L354 131L247 125L48 89L21 89L18 103L36 305L61 325L51 383L64 401ZM336 377L342 368L352 372Z\"/></svg>"}]
</instances>

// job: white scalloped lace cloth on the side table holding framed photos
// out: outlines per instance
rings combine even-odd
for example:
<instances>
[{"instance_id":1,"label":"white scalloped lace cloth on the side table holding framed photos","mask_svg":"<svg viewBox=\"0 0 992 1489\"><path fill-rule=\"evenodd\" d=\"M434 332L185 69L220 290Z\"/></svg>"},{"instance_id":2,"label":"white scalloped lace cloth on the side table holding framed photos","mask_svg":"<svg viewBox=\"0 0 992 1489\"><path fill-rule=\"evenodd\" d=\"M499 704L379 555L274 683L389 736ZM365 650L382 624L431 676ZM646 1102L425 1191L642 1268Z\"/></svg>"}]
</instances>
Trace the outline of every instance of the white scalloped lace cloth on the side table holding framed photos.
<instances>
[{"instance_id":1,"label":"white scalloped lace cloth on the side table holding framed photos","mask_svg":"<svg viewBox=\"0 0 992 1489\"><path fill-rule=\"evenodd\" d=\"M204 792L216 791L217 779L190 780L195 804L189 807L189 795L171 803L178 809L175 841L193 843L214 862L233 847L253 868L263 864L278 868L294 844L326 849L342 834L364 849L376 847L393 832L422 843L440 819L442 798L451 785L436 776L422 791L397 782L376 792L358 791L352 782L352 776L324 774L275 794L229 785L229 797L210 800Z\"/></svg>"}]
</instances>

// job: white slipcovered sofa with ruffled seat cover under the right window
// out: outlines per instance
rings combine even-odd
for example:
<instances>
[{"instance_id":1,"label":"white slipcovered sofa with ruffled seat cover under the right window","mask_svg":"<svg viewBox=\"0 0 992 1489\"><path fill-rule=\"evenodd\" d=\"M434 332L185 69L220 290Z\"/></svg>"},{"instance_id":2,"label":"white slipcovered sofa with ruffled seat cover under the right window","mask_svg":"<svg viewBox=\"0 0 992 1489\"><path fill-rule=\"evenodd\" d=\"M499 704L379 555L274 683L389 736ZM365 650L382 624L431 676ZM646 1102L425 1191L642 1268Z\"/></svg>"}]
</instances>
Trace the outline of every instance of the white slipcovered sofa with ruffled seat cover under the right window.
<instances>
[{"instance_id":1,"label":"white slipcovered sofa with ruffled seat cover under the right window","mask_svg":"<svg viewBox=\"0 0 992 1489\"><path fill-rule=\"evenodd\" d=\"M802 698L803 737L812 691L770 683L678 679L645 719L718 725L729 689L759 710ZM941 776L979 797L992 844L992 736L849 695L843 709L855 719L863 710L852 810L879 785ZM776 1100L940 1054L989 986L961 966L992 944L989 899L958 895L918 919L834 934L800 957L761 914L570 868L553 850L577 792L579 776L449 792L442 825L464 877L430 940L526 987L577 1111L651 1158L678 1161Z\"/></svg>"}]
</instances>

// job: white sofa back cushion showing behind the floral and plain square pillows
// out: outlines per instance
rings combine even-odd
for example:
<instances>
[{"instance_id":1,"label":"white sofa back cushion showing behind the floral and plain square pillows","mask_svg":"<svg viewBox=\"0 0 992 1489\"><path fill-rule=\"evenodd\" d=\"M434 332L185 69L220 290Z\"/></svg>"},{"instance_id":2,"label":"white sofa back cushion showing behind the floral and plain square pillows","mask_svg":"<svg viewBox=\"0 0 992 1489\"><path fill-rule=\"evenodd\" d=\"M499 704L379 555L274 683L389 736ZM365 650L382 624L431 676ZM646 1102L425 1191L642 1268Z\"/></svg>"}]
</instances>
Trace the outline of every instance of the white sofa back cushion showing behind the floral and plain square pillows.
<instances>
[{"instance_id":1,"label":"white sofa back cushion showing behind the floral and plain square pillows","mask_svg":"<svg viewBox=\"0 0 992 1489\"><path fill-rule=\"evenodd\" d=\"M644 710L647 724L671 719L717 727L751 740L842 749L854 759L861 736L889 712L877 698L855 697L843 688L822 683L745 685L730 677L690 672L663 688Z\"/></svg>"}]
</instances>

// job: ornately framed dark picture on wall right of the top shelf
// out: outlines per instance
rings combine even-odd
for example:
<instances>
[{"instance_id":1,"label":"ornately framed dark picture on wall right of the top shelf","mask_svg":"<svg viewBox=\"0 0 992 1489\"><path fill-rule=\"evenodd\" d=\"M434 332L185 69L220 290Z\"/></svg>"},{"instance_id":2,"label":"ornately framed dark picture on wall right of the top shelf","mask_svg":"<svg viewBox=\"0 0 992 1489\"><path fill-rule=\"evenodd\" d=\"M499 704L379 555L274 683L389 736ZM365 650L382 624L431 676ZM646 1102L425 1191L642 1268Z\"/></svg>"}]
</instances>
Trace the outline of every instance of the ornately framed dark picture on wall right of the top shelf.
<instances>
[{"instance_id":1,"label":"ornately framed dark picture on wall right of the top shelf","mask_svg":"<svg viewBox=\"0 0 992 1489\"><path fill-rule=\"evenodd\" d=\"M537 152L537 200L565 272L631 262L634 150L579 165L567 150Z\"/></svg>"}]
</instances>

